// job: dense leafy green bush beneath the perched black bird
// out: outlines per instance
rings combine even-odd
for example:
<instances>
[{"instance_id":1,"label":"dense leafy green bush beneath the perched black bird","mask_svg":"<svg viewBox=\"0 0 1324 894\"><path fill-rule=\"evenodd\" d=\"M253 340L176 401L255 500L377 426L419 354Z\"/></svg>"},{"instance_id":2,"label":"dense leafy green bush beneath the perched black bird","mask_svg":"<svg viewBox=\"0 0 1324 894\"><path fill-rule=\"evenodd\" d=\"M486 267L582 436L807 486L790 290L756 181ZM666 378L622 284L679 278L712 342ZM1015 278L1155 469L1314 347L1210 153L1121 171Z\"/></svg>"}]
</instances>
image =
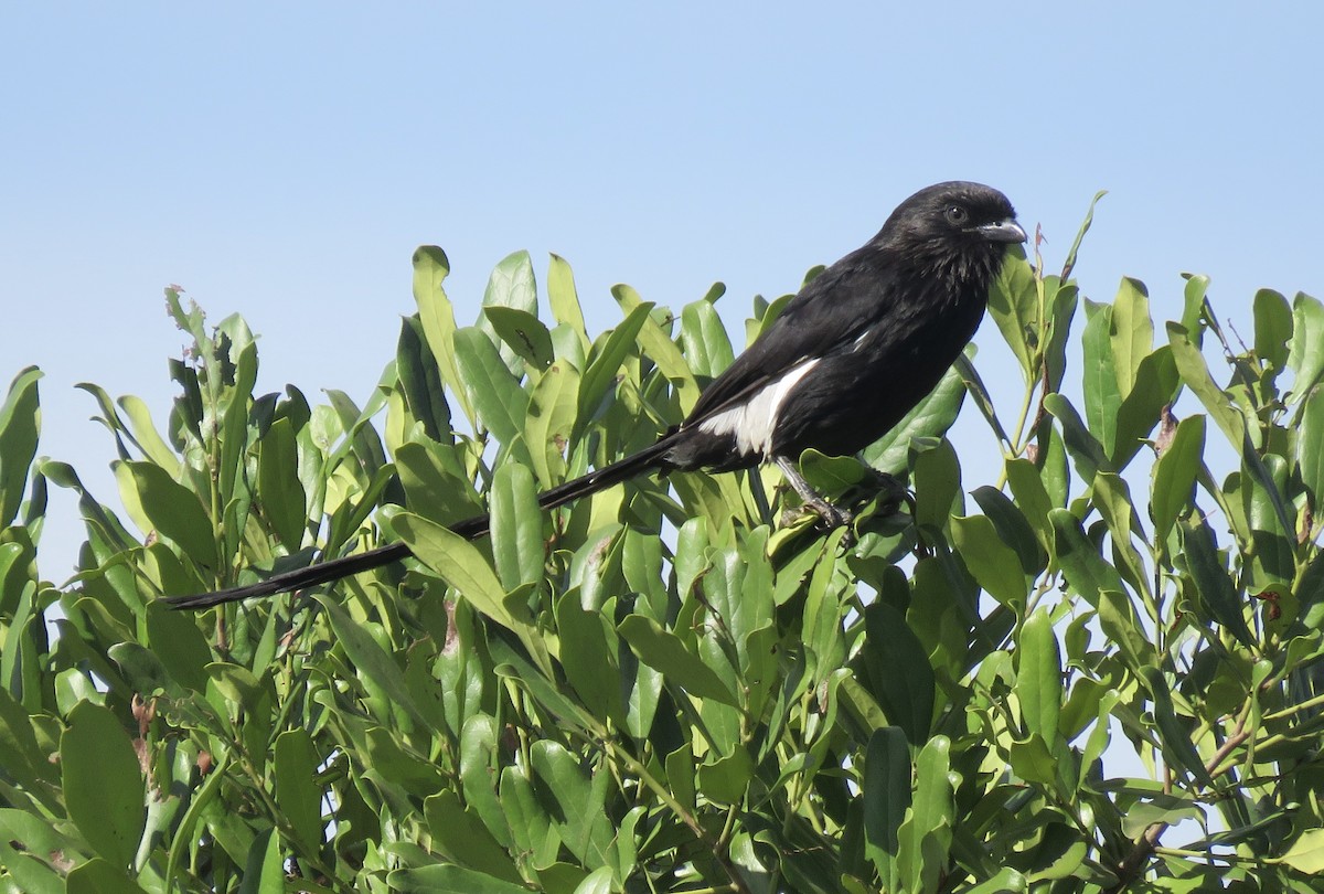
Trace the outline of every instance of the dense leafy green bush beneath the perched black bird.
<instances>
[{"instance_id":1,"label":"dense leafy green bush beneath the perched black bird","mask_svg":"<svg viewBox=\"0 0 1324 894\"><path fill-rule=\"evenodd\" d=\"M361 408L254 395L244 321L169 291L193 346L164 433L89 387L122 514L33 465L24 371L0 415L9 890L1316 890L1324 306L1259 293L1246 346L1190 277L1155 346L1139 282L1078 326L1076 246L994 290L1014 421L967 360L867 452L908 513L806 454L858 509L830 534L779 522L771 470L538 511L731 362L720 286L679 314L617 287L594 339L569 266L544 322L515 254L459 328L422 248ZM756 299L749 338L780 307ZM1004 450L969 493L943 437L965 393ZM50 483L87 530L65 588L36 567ZM446 530L483 506L490 540ZM389 539L417 559L200 616L158 601Z\"/></svg>"}]
</instances>

